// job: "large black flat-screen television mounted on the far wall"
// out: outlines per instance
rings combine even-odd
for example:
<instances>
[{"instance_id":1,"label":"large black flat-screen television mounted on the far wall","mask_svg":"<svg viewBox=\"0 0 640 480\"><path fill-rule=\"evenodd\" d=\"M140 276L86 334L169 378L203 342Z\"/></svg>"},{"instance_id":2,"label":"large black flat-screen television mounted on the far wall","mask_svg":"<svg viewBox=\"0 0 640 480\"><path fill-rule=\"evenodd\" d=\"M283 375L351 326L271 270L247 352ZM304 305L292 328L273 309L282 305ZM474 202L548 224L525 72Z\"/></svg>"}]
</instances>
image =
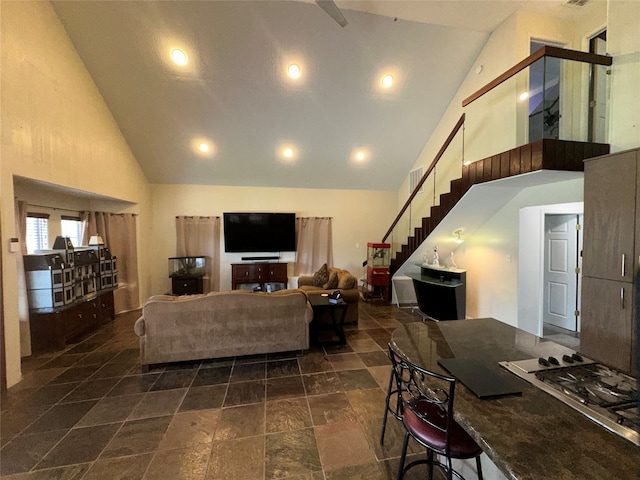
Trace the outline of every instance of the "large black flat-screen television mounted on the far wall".
<instances>
[{"instance_id":1,"label":"large black flat-screen television mounted on the far wall","mask_svg":"<svg viewBox=\"0 0 640 480\"><path fill-rule=\"evenodd\" d=\"M295 213L225 213L224 250L229 253L294 252Z\"/></svg>"}]
</instances>

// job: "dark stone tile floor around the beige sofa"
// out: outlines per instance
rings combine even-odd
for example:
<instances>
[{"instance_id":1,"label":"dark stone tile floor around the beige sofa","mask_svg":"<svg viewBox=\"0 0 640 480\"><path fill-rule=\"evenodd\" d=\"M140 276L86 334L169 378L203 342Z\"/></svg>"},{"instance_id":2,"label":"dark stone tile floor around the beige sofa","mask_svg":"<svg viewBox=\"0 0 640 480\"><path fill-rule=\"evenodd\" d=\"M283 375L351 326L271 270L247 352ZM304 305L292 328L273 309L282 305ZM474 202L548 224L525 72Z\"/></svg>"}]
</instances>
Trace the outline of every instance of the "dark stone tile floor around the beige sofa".
<instances>
[{"instance_id":1,"label":"dark stone tile floor around the beige sofa","mask_svg":"<svg viewBox=\"0 0 640 480\"><path fill-rule=\"evenodd\" d=\"M421 318L379 302L359 308L347 345L305 352L142 374L133 332L139 312L130 312L64 352L27 357L23 380L0 399L0 476L396 478L402 425L390 418L385 445L379 441L386 345L394 328Z\"/></svg>"}]
</instances>

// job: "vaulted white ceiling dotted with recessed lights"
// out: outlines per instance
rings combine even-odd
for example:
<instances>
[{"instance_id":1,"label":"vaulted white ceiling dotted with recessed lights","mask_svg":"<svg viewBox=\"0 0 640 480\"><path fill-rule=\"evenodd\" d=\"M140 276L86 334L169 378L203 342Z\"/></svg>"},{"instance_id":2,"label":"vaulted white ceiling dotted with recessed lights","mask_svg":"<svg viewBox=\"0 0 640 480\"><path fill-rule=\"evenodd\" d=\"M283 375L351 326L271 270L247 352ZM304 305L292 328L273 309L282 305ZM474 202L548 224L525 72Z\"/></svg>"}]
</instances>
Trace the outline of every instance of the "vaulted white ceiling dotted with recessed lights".
<instances>
[{"instance_id":1,"label":"vaulted white ceiling dotted with recessed lights","mask_svg":"<svg viewBox=\"0 0 640 480\"><path fill-rule=\"evenodd\" d=\"M53 5L150 182L395 190L488 32L527 3L338 1L345 28L308 1Z\"/></svg>"}]
</instances>

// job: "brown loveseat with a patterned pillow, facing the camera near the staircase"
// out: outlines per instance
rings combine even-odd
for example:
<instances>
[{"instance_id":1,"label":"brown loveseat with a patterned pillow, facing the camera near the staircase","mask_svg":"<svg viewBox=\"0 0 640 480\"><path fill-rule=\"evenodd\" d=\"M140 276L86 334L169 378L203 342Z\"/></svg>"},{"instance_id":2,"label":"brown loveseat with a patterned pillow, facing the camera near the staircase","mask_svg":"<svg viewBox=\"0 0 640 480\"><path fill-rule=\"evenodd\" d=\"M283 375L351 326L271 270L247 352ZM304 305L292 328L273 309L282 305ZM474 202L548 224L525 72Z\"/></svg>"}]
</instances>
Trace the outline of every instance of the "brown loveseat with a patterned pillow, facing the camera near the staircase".
<instances>
[{"instance_id":1,"label":"brown loveseat with a patterned pillow, facing the camera near the staircase","mask_svg":"<svg viewBox=\"0 0 640 480\"><path fill-rule=\"evenodd\" d=\"M329 294L340 290L344 301L349 305L344 323L358 323L358 302L360 301L358 279L347 270L327 267L325 264L313 276L299 277L298 288L307 295Z\"/></svg>"}]
</instances>

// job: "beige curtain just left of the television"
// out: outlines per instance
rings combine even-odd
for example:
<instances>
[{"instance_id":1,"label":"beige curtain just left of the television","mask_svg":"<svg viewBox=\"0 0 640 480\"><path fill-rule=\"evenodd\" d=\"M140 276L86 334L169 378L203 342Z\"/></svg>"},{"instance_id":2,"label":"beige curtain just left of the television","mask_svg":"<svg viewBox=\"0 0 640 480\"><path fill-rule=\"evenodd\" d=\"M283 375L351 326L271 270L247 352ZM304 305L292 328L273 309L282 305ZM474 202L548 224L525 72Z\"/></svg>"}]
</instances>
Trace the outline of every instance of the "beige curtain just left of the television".
<instances>
[{"instance_id":1,"label":"beige curtain just left of the television","mask_svg":"<svg viewBox=\"0 0 640 480\"><path fill-rule=\"evenodd\" d=\"M220 217L176 217L176 256L206 257L203 291L220 291Z\"/></svg>"}]
</instances>

